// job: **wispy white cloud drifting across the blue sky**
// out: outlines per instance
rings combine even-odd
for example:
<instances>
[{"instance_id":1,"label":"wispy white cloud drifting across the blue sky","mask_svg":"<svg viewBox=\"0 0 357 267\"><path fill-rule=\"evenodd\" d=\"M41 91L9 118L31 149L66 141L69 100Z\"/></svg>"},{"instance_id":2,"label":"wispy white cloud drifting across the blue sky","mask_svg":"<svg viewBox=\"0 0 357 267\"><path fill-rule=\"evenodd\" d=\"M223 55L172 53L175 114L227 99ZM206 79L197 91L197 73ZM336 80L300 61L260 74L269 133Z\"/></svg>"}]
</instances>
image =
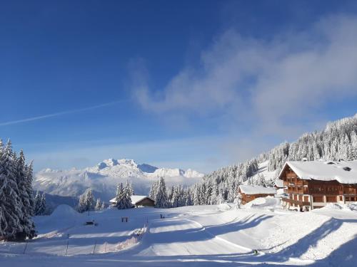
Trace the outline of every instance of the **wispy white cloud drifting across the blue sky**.
<instances>
[{"instance_id":1,"label":"wispy white cloud drifting across the blue sky","mask_svg":"<svg viewBox=\"0 0 357 267\"><path fill-rule=\"evenodd\" d=\"M229 127L251 120L256 132L288 132L299 127L291 117L357 95L356 33L357 19L349 16L268 41L228 30L201 53L200 68L186 66L163 90L141 79L134 92L142 108L159 115L220 114Z\"/></svg>"}]
</instances>

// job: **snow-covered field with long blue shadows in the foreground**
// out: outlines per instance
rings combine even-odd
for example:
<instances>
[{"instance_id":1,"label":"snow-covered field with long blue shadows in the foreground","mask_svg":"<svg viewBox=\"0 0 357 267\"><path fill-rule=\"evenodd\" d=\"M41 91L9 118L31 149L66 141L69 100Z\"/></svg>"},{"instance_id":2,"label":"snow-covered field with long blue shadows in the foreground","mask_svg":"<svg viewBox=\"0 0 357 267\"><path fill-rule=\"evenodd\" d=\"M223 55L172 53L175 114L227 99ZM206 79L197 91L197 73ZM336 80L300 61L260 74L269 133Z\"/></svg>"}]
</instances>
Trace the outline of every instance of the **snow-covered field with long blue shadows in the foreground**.
<instances>
[{"instance_id":1,"label":"snow-covered field with long blue shadows in the foreground","mask_svg":"<svg viewBox=\"0 0 357 267\"><path fill-rule=\"evenodd\" d=\"M300 213L271 197L239 210L221 204L88 215L59 206L35 218L39 236L27 245L0 243L0 266L357 266L356 207ZM97 225L84 225L91 220Z\"/></svg>"}]
</instances>

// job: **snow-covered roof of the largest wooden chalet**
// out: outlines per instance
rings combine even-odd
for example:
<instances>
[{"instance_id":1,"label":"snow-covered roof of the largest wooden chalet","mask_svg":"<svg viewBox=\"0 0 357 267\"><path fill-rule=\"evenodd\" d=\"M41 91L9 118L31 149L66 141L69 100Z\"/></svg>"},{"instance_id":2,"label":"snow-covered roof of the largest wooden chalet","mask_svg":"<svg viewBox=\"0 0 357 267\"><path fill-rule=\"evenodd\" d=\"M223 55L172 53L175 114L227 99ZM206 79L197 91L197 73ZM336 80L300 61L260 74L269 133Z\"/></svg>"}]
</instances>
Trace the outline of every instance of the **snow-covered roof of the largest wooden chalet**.
<instances>
[{"instance_id":1,"label":"snow-covered roof of the largest wooden chalet","mask_svg":"<svg viewBox=\"0 0 357 267\"><path fill-rule=\"evenodd\" d=\"M341 184L357 184L357 161L341 161L341 162L323 162L323 161L311 161L311 162L286 162L286 165L291 167L293 172L300 179L316 179L321 181L337 180ZM281 177L281 174L279 177Z\"/></svg>"}]
</instances>

